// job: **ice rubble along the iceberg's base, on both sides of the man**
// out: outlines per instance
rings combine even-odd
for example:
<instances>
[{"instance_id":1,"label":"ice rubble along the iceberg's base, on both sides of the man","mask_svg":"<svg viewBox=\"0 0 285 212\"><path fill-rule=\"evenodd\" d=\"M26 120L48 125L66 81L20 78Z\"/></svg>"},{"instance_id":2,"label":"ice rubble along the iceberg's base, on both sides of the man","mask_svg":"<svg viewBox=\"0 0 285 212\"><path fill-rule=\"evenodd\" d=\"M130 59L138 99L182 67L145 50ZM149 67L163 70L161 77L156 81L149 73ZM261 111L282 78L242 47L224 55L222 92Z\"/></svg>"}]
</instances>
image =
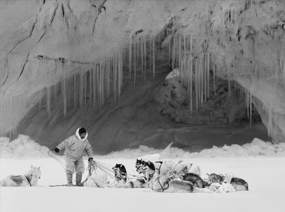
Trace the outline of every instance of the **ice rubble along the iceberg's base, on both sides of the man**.
<instances>
[{"instance_id":1,"label":"ice rubble along the iceberg's base, on both sides of the man","mask_svg":"<svg viewBox=\"0 0 285 212\"><path fill-rule=\"evenodd\" d=\"M145 161L160 161L163 158L217 158L217 157L285 157L285 143L272 144L254 138L251 143L239 146L232 144L223 147L213 146L211 149L204 149L201 152L185 152L182 149L171 147L171 142L165 149L154 149L140 145L137 149L125 149L123 151L111 152L107 155L96 156L96 158L130 158ZM48 158L49 149L40 146L27 135L19 135L10 142L7 137L0 137L0 158L11 159L40 159Z\"/></svg>"}]
</instances>

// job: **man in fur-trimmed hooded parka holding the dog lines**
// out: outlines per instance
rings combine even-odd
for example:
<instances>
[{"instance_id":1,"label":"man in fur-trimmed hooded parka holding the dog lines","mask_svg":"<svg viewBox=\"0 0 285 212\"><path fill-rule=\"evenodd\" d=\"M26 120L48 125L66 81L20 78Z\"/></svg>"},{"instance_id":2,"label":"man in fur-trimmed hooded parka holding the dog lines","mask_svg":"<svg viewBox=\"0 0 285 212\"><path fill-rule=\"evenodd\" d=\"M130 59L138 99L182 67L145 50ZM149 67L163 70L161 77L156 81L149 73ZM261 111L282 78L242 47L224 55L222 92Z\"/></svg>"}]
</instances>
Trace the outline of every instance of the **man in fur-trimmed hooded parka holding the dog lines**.
<instances>
[{"instance_id":1,"label":"man in fur-trimmed hooded parka holding the dog lines","mask_svg":"<svg viewBox=\"0 0 285 212\"><path fill-rule=\"evenodd\" d=\"M56 153L64 150L64 164L66 170L67 186L74 186L72 183L72 174L76 171L76 186L82 186L82 173L85 171L84 161L82 159L84 150L89 159L93 159L93 150L87 140L88 133L86 129L78 128L76 134L62 141L54 149Z\"/></svg>"}]
</instances>

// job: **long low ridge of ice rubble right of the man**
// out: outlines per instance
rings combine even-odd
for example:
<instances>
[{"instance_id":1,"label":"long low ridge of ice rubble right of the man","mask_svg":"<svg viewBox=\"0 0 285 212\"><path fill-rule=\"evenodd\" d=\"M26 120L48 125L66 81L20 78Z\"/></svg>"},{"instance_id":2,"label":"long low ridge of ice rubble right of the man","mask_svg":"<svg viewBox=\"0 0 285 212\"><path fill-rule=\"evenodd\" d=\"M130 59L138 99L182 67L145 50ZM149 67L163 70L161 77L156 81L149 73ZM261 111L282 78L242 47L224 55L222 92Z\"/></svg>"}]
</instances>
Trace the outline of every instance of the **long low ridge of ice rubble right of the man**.
<instances>
[{"instance_id":1,"label":"long low ridge of ice rubble right of the man","mask_svg":"<svg viewBox=\"0 0 285 212\"><path fill-rule=\"evenodd\" d=\"M223 147L213 146L211 149L204 149L201 152L185 152L182 149L171 147L170 143L165 149L154 149L140 145L138 149L125 149L123 151L111 152L104 156L96 156L96 158L152 158L152 155L159 154L159 160L162 158L248 158L248 157L285 157L285 143L272 144L264 142L258 138L254 138L251 143L239 146L232 144ZM155 159L156 160L156 159ZM150 160L151 161L151 160ZM153 160L154 161L154 160ZM157 160L156 160L157 161Z\"/></svg>"}]
</instances>

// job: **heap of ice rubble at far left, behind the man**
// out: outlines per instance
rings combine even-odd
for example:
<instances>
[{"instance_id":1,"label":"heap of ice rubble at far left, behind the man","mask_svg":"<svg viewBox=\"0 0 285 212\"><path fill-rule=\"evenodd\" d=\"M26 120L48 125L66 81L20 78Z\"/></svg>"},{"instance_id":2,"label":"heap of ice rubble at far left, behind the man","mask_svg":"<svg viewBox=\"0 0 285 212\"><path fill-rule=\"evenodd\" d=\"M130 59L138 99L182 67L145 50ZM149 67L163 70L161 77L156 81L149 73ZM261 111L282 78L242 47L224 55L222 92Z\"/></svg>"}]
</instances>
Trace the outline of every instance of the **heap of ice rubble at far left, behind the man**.
<instances>
[{"instance_id":1,"label":"heap of ice rubble at far left, behind the man","mask_svg":"<svg viewBox=\"0 0 285 212\"><path fill-rule=\"evenodd\" d=\"M11 159L40 159L48 158L49 149L40 146L27 135L18 135L10 142L7 137L0 137L0 158Z\"/></svg>"}]
</instances>

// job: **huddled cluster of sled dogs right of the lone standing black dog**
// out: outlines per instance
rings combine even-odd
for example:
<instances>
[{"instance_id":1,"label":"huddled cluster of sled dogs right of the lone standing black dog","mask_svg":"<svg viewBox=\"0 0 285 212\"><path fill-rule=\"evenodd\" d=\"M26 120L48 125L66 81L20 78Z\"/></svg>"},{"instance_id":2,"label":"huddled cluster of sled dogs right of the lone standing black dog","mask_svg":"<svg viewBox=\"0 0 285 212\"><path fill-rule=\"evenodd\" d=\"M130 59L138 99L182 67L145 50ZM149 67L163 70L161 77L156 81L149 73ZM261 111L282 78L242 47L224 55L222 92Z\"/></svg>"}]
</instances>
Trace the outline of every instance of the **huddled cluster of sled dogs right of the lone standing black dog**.
<instances>
[{"instance_id":1,"label":"huddled cluster of sled dogs right of the lone standing black dog","mask_svg":"<svg viewBox=\"0 0 285 212\"><path fill-rule=\"evenodd\" d=\"M130 179L117 188L151 188L155 192L168 193L226 193L248 190L245 180L233 173L227 175L207 174L207 182L201 179L201 168L195 163L179 160L177 163L151 162L137 159L137 172L144 176Z\"/></svg>"}]
</instances>

